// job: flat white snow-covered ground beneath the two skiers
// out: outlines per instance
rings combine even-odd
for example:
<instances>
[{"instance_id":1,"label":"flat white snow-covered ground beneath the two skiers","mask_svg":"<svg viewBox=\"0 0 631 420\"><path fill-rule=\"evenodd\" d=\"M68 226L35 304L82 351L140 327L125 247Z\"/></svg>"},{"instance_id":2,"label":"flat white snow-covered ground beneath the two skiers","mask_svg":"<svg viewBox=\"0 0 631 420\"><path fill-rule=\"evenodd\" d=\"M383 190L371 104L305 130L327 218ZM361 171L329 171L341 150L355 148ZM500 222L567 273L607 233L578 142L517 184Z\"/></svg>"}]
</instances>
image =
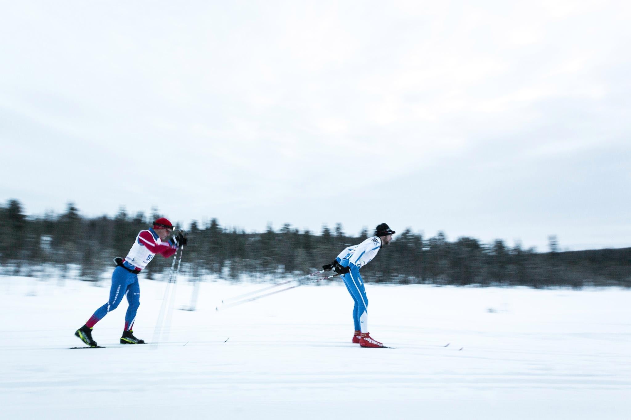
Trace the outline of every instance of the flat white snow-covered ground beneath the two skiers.
<instances>
[{"instance_id":1,"label":"flat white snow-covered ground beneath the two skiers","mask_svg":"<svg viewBox=\"0 0 631 420\"><path fill-rule=\"evenodd\" d=\"M107 348L68 349L108 286L0 277L0 418L631 417L631 290L369 284L369 330L396 349L363 349L337 281L223 312L265 285L214 281L157 346L118 344L124 301L95 327ZM141 280L139 338L164 288Z\"/></svg>"}]
</instances>

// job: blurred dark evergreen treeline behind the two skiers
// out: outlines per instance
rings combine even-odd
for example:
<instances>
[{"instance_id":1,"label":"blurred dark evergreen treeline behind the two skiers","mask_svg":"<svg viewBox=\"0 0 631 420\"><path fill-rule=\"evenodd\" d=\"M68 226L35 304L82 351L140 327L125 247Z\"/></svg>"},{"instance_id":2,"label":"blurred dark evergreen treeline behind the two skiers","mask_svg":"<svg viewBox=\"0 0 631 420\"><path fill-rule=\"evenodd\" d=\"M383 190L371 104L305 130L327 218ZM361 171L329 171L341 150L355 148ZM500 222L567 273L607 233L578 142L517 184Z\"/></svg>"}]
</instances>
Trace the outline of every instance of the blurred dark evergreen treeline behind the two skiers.
<instances>
[{"instance_id":1,"label":"blurred dark evergreen treeline behind the two skiers","mask_svg":"<svg viewBox=\"0 0 631 420\"><path fill-rule=\"evenodd\" d=\"M160 217L128 215L121 209L114 218L86 218L69 203L62 214L26 217L19 201L0 206L4 232L0 236L0 264L4 272L30 267L76 264L84 280L95 281L113 268L112 258L125 256L139 230ZM314 234L300 232L285 224L262 233L226 229L216 219L187 227L189 246L185 270L193 278L206 274L238 280L242 275L290 276L320 269L344 247L358 244L372 235L348 236L341 224L322 227ZM380 283L432 283L440 285L524 285L529 287L584 285L631 286L631 248L559 252L550 237L550 251L536 253L521 246L508 247L502 241L483 244L461 237L447 241L423 237L411 230L397 232L394 241L377 258L362 268L365 281ZM162 272L168 262L151 261L148 277ZM10 272L9 272L10 273Z\"/></svg>"}]
</instances>

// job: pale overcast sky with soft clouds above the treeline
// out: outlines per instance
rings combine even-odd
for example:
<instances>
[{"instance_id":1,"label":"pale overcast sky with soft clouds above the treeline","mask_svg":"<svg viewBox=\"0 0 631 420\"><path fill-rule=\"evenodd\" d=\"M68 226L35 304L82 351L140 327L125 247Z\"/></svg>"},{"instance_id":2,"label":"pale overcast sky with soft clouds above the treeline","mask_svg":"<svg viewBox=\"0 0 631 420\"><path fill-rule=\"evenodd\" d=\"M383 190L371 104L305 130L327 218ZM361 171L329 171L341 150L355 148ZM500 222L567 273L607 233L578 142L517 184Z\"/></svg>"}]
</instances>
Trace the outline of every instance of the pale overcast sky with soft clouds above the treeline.
<instances>
[{"instance_id":1,"label":"pale overcast sky with soft clouds above the treeline","mask_svg":"<svg viewBox=\"0 0 631 420\"><path fill-rule=\"evenodd\" d=\"M631 246L630 2L0 3L28 214Z\"/></svg>"}]
</instances>

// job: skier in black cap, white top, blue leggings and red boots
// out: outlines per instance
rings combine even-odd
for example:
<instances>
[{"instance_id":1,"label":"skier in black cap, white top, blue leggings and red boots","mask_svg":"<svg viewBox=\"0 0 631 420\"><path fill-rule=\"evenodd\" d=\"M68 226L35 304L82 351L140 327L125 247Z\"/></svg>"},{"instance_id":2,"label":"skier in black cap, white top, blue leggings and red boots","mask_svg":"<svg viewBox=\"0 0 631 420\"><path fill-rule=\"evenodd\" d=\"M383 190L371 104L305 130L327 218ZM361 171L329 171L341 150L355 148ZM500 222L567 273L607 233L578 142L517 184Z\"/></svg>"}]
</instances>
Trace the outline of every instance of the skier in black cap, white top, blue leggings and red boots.
<instances>
[{"instance_id":1,"label":"skier in black cap, white top, blue leggings and red boots","mask_svg":"<svg viewBox=\"0 0 631 420\"><path fill-rule=\"evenodd\" d=\"M342 276L348 292L355 300L353 308L355 333L352 341L359 343L362 347L384 347L384 345L370 337L368 332L368 298L359 270L375 258L382 246L390 244L394 233L396 232L387 224L382 223L375 229L375 236L369 237L359 245L346 248L332 263L322 266L324 270L335 270Z\"/></svg>"}]
</instances>

